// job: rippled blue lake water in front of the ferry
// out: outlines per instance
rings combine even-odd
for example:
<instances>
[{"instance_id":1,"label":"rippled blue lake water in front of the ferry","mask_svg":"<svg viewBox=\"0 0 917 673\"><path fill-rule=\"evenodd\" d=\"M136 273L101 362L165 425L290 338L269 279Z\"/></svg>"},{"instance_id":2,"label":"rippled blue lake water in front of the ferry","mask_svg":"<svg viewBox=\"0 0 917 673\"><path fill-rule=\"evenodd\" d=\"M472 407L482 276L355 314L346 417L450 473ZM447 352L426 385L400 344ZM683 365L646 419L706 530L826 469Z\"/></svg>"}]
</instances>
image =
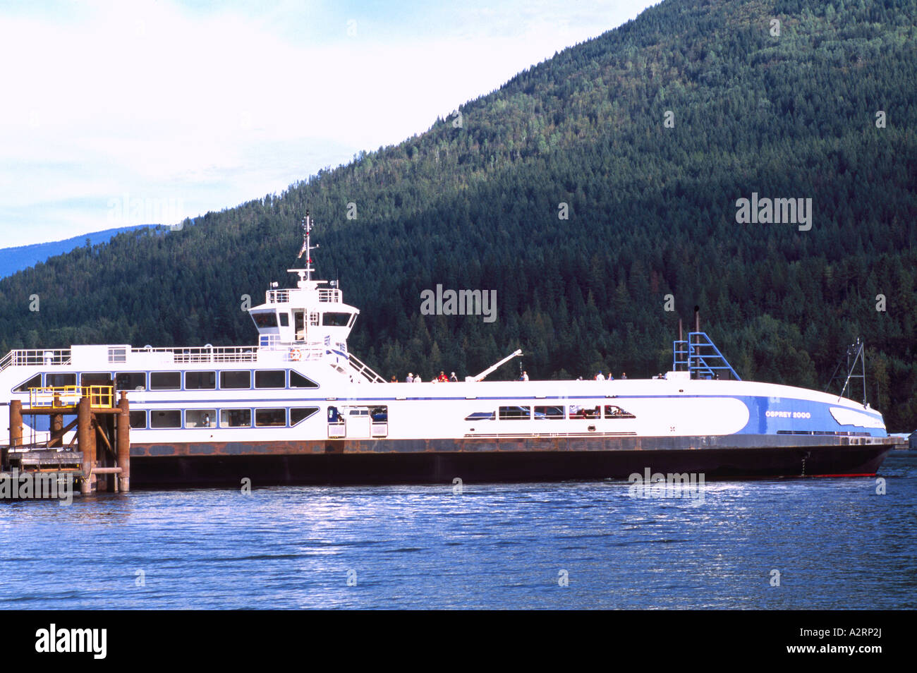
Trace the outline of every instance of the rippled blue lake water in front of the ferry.
<instances>
[{"instance_id":1,"label":"rippled blue lake water in front of the ferry","mask_svg":"<svg viewBox=\"0 0 917 673\"><path fill-rule=\"evenodd\" d=\"M881 474L0 502L0 607L914 609L917 455Z\"/></svg>"}]
</instances>

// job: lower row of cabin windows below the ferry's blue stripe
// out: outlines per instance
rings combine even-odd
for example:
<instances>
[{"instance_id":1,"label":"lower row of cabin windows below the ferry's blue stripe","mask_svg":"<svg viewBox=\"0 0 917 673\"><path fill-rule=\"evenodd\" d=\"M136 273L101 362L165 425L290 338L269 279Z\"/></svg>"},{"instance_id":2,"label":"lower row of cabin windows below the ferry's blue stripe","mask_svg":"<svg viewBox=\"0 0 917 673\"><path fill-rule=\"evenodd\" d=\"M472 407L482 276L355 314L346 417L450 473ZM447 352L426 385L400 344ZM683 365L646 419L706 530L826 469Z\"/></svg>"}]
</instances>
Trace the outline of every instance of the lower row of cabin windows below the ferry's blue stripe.
<instances>
[{"instance_id":1,"label":"lower row of cabin windows below the ferry's blue stripe","mask_svg":"<svg viewBox=\"0 0 917 673\"><path fill-rule=\"evenodd\" d=\"M254 427L293 427L317 412L316 406L290 409L152 409L149 412L130 412L130 426L138 430L147 427L252 427L254 420Z\"/></svg>"}]
</instances>

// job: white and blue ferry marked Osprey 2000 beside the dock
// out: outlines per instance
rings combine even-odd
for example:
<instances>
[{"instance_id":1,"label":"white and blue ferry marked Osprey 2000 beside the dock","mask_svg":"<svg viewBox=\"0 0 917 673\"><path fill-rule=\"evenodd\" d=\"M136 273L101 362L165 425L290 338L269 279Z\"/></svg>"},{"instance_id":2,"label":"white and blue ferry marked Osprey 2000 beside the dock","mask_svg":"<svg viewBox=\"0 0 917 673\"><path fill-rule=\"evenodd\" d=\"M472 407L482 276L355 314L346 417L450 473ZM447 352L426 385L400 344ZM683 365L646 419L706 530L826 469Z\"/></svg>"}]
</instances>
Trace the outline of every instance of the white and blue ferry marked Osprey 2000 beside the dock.
<instances>
[{"instance_id":1,"label":"white and blue ferry marked Osprey 2000 beside the dock","mask_svg":"<svg viewBox=\"0 0 917 673\"><path fill-rule=\"evenodd\" d=\"M359 310L313 279L308 215L303 226L295 287L271 283L249 309L256 346L17 349L0 359L0 390L127 392L135 488L866 476L891 448L876 410L741 381L697 325L648 380L484 381L516 351L465 381L386 382L349 352ZM24 438L47 439L47 418L25 412Z\"/></svg>"}]
</instances>

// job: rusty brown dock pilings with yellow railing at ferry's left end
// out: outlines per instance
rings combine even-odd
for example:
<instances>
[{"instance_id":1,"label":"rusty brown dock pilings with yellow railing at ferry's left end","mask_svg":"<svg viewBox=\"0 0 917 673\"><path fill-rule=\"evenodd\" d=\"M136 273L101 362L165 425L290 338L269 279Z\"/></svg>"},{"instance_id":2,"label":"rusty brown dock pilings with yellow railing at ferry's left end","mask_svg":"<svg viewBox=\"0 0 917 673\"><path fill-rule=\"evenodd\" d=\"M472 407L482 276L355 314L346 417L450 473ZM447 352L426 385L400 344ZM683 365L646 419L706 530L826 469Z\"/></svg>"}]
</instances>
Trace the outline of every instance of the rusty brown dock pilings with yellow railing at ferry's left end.
<instances>
[{"instance_id":1,"label":"rusty brown dock pilings with yellow railing at ferry's left end","mask_svg":"<svg viewBox=\"0 0 917 673\"><path fill-rule=\"evenodd\" d=\"M27 442L23 418L39 415L49 416L49 437ZM9 403L9 433L9 446L0 447L2 473L70 473L81 494L130 490L130 404L124 391L116 401L113 386L31 388L28 404Z\"/></svg>"}]
</instances>

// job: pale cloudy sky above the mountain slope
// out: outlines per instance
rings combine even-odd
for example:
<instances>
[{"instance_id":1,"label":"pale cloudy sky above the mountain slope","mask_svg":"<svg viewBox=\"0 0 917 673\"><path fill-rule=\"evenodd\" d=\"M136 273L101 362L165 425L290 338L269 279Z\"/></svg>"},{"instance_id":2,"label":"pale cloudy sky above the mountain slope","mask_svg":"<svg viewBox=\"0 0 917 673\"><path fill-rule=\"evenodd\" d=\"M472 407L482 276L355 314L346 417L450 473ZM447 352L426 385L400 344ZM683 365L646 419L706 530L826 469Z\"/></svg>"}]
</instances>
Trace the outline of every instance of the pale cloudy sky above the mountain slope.
<instances>
[{"instance_id":1,"label":"pale cloudy sky above the mountain slope","mask_svg":"<svg viewBox=\"0 0 917 673\"><path fill-rule=\"evenodd\" d=\"M282 193L652 4L0 0L0 248Z\"/></svg>"}]
</instances>

